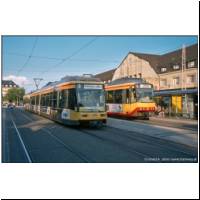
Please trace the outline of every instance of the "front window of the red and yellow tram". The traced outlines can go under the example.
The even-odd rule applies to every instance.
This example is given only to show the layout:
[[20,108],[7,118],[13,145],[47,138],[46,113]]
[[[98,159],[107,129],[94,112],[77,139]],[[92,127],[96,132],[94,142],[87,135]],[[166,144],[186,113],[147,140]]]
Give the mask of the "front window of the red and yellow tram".
[[136,98],[139,102],[152,102],[153,89],[152,88],[138,88],[136,89]]

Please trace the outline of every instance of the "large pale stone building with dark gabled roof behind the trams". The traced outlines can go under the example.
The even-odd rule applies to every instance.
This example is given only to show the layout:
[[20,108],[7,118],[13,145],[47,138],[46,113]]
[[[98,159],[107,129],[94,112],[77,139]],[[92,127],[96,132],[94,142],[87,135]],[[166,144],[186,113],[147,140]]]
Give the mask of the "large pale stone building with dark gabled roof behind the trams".
[[153,84],[156,101],[166,115],[197,118],[197,44],[163,55],[129,52],[117,68],[96,75],[103,81],[127,76]]

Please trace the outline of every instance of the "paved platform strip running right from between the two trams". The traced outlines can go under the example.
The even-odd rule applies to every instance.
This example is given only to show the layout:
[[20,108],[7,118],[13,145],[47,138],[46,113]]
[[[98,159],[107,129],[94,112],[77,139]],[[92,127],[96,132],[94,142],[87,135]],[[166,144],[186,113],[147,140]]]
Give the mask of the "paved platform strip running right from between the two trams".
[[142,122],[126,121],[122,119],[108,118],[107,125],[113,128],[137,132],[163,140],[173,141],[190,147],[198,147],[198,131],[185,130],[174,127],[164,127]]

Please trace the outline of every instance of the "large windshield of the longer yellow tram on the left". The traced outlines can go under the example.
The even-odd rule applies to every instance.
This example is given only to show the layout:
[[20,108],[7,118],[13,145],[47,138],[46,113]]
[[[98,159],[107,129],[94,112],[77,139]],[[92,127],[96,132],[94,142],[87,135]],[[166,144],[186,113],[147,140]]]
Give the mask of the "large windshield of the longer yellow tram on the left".
[[105,111],[105,94],[102,85],[79,86],[77,97],[80,111]]

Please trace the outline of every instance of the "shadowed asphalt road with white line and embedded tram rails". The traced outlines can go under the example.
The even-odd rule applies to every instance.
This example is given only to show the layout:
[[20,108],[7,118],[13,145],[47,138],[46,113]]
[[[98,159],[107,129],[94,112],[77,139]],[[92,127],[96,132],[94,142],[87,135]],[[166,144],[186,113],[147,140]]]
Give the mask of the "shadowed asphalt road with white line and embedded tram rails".
[[117,127],[63,126],[23,109],[3,108],[2,162],[197,162],[197,149]]

